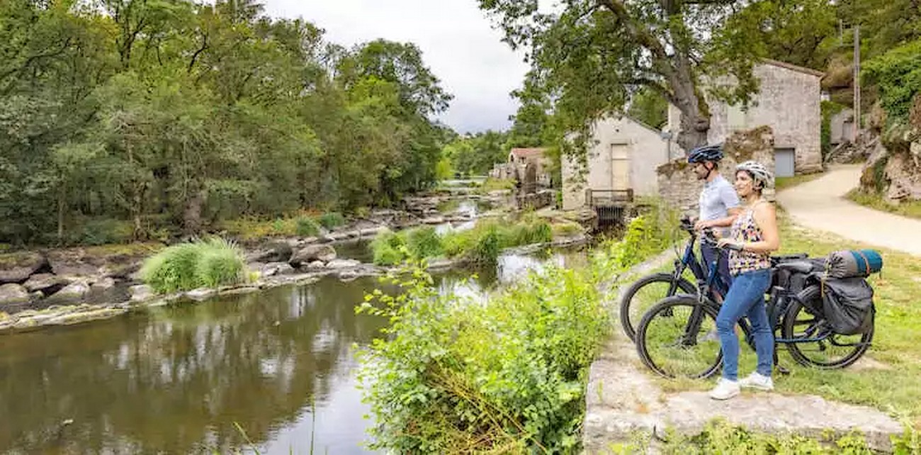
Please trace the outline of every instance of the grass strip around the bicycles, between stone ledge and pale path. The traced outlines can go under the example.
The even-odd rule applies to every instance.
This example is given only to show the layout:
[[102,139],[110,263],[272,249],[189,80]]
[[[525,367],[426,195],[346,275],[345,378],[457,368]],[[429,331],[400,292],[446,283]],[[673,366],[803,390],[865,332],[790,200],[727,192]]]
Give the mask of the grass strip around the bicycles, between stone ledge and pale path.
[[[875,248],[832,234],[792,225],[781,214],[781,253],[809,252],[821,257],[831,251]],[[915,428],[921,428],[921,259],[889,250],[879,250],[884,266],[881,274],[869,278],[875,290],[876,332],[873,345],[856,365],[845,369],[818,370],[801,367],[779,346],[780,362],[792,370],[777,377],[780,393],[818,394],[839,402],[867,405],[893,414]],[[670,266],[663,267],[663,270]],[[743,347],[740,372],[754,368],[755,356]],[[712,381],[657,379],[665,391],[707,390]]]

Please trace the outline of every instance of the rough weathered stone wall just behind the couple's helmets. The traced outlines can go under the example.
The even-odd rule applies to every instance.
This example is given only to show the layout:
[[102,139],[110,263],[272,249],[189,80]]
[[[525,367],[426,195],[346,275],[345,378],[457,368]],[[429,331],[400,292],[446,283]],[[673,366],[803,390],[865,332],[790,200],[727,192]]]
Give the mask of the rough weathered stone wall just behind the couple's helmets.
[[[719,171],[729,182],[735,181],[735,168],[740,162],[753,159],[767,169],[774,169],[774,134],[770,127],[762,126],[749,131],[731,134],[723,145],[726,156]],[[697,216],[697,200],[704,182],[697,180],[694,169],[686,158],[676,158],[659,166],[659,196],[683,213]],[[774,189],[764,191],[764,197],[774,200]]]

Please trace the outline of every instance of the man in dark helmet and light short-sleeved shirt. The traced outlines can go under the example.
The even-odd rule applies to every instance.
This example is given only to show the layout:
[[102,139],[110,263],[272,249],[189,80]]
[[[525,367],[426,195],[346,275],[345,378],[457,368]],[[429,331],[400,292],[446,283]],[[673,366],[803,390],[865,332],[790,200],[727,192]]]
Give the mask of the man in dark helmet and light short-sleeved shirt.
[[[740,214],[739,195],[736,194],[735,188],[719,173],[719,160],[723,159],[723,150],[721,146],[700,146],[691,150],[688,156],[688,163],[694,166],[694,174],[698,180],[704,181],[704,190],[700,192],[700,216],[694,228],[697,230],[705,227],[714,227],[717,225],[731,225],[736,216]],[[719,229],[717,233],[720,237],[725,237],[726,229]],[[707,266],[719,258],[717,262],[717,273],[722,278],[723,283],[729,286],[732,283],[732,276],[729,275],[729,258],[726,254],[720,254],[719,250],[709,245],[701,243],[701,255]]]

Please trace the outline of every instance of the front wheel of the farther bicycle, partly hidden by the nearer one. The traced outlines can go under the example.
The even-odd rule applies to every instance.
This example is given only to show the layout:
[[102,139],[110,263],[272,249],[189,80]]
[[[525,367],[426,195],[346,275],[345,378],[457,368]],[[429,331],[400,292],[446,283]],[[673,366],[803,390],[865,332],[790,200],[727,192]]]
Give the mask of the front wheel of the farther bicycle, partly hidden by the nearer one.
[[684,278],[680,278],[674,286],[672,286],[673,281],[674,275],[672,274],[649,274],[636,280],[624,291],[624,297],[621,298],[621,327],[624,328],[624,333],[630,338],[630,341],[636,340],[636,322],[643,317],[647,309],[662,298],[671,297],[677,293],[694,294],[697,289],[694,284]]

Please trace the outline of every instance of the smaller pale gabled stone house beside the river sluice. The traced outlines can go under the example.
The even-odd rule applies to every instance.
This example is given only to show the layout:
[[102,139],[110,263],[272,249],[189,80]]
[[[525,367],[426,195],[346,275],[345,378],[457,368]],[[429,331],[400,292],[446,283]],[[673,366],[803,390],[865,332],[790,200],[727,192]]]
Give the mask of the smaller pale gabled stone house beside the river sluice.
[[585,207],[586,190],[658,195],[656,168],[684,156],[670,136],[627,116],[604,117],[589,131],[588,169],[574,157],[564,157],[561,163],[564,210]]

